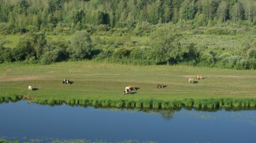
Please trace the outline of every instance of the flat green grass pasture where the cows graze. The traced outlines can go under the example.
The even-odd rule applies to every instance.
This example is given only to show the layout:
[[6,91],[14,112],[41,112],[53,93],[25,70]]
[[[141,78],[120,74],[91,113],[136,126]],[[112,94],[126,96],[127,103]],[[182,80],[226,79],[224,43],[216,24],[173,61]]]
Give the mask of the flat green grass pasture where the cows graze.
[[[194,84],[189,83],[187,77],[195,77],[196,74],[204,75],[205,79],[196,80],[198,82]],[[70,79],[74,83],[70,86],[63,85],[61,83],[63,79]],[[237,102],[246,100],[253,102],[248,104],[254,106],[255,80],[256,75],[253,70],[220,70],[192,66],[133,66],[93,61],[51,65],[0,64],[1,96],[22,94],[34,98],[38,103],[80,102],[82,104],[83,100],[84,104],[92,102],[94,105],[102,105],[111,101],[132,101],[141,104],[148,102],[147,106],[152,107],[157,106],[151,103],[154,101],[160,101],[156,104],[183,101],[181,104],[184,104],[184,101],[189,99],[195,105],[196,102],[201,104],[203,100],[212,103],[216,99],[219,104],[228,99]],[[161,83],[166,87],[157,89],[157,84]],[[29,85],[38,90],[28,91]],[[123,95],[122,91],[129,85],[140,89],[133,91],[133,94]],[[106,104],[110,106],[111,103]],[[239,102],[237,106],[242,104]],[[146,106],[146,103],[138,106]]]

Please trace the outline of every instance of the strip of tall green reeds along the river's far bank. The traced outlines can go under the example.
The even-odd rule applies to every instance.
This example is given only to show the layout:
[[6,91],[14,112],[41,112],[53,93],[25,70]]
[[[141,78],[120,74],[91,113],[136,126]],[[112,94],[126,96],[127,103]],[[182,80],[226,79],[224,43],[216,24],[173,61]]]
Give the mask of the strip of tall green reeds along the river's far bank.
[[220,108],[254,108],[256,107],[256,99],[232,99],[232,98],[211,98],[211,99],[182,99],[173,101],[160,100],[86,100],[67,98],[65,100],[58,98],[28,98],[27,96],[12,95],[1,96],[2,102],[16,102],[18,100],[29,100],[30,102],[61,105],[81,105],[93,107],[116,107],[116,108],[139,108],[139,109],[175,109],[180,107],[194,107],[195,109],[220,109]]

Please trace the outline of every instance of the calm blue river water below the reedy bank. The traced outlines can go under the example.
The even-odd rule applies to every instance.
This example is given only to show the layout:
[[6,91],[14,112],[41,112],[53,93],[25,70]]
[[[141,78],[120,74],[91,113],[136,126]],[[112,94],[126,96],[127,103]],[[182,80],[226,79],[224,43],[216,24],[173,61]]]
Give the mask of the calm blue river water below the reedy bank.
[[[0,104],[0,138],[256,142],[256,110],[168,112]],[[48,140],[49,141],[49,140]],[[44,141],[43,142],[48,142]]]

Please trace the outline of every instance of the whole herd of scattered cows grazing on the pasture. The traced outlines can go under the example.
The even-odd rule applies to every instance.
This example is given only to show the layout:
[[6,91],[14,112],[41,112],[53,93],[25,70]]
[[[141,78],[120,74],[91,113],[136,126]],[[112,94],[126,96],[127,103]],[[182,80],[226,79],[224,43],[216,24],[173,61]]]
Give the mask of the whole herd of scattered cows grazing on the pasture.
[[[204,77],[202,75],[196,75],[196,79],[200,80],[200,79],[204,79]],[[194,78],[188,78],[188,82],[189,83],[194,83]],[[62,81],[62,84],[68,84],[70,85],[72,82],[70,82],[70,80],[68,79],[64,79]],[[165,87],[164,84],[157,84],[157,88],[163,88]],[[127,86],[125,87],[124,91],[123,91],[123,94],[131,94],[131,91],[133,90],[137,90],[139,89],[138,87],[135,87],[135,86]],[[28,90],[29,91],[32,91],[33,90],[33,87],[32,86],[28,86]]]

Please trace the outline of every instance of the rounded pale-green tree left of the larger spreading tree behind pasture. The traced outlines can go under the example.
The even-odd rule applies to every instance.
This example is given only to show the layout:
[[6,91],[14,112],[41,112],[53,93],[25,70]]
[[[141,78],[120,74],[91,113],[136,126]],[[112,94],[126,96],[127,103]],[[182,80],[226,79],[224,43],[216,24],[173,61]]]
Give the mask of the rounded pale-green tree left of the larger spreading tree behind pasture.
[[67,52],[73,59],[84,59],[92,56],[92,50],[90,34],[87,31],[76,31],[71,37]]

